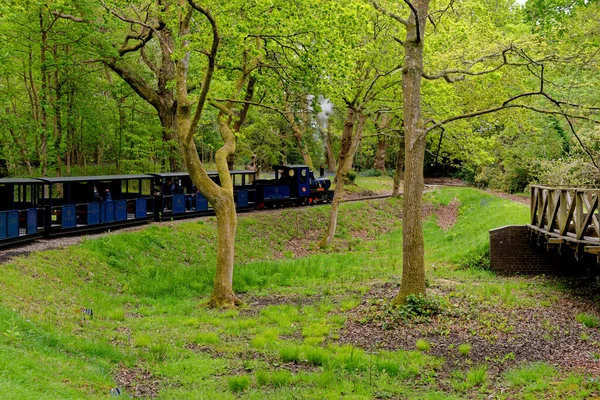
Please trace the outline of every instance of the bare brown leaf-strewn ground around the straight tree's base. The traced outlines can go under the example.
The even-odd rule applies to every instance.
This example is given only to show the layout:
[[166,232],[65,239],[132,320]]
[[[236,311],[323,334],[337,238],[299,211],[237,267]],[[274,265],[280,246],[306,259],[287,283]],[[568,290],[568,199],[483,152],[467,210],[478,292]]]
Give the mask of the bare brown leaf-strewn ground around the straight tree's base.
[[[425,339],[432,345],[428,353],[446,360],[446,373],[485,363],[491,375],[499,375],[517,363],[534,361],[600,373],[600,331],[575,319],[578,313],[598,314],[598,305],[587,300],[591,297],[557,291],[551,303],[539,298],[536,306],[507,306],[470,298],[456,284],[441,280],[430,288],[430,293],[452,301],[441,315],[421,322],[386,317],[385,308],[398,287],[374,285],[348,313],[340,341],[365,349],[415,350],[416,341]],[[471,345],[466,355],[458,351],[464,344]]]

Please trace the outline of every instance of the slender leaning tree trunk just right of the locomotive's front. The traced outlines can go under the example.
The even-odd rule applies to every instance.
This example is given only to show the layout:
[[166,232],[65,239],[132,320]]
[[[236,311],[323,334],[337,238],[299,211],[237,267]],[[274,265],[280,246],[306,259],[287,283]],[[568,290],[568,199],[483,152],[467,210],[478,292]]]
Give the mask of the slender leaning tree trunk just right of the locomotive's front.
[[[362,114],[360,111],[356,112],[352,108],[348,108],[348,115],[346,117],[346,122],[344,123],[344,133],[342,134],[342,146],[338,158],[338,171],[335,176],[335,195],[333,196],[333,202],[329,212],[327,232],[319,243],[321,248],[330,246],[333,241],[337,228],[340,202],[344,195],[344,181],[346,180],[348,171],[350,171],[350,168],[352,167],[354,153],[356,153],[356,149],[362,139],[366,120],[367,116],[365,114]],[[353,135],[352,133],[355,131],[355,125],[356,132]]]

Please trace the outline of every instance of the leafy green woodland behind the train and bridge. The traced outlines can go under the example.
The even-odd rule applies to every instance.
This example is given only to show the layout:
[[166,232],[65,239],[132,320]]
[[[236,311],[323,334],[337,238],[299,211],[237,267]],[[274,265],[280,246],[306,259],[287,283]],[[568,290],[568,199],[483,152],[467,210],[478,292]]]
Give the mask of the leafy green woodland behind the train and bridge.
[[[160,28],[178,6],[172,3],[0,5],[2,174],[183,168],[174,134],[178,56],[167,51],[178,39]],[[210,166],[221,145],[219,102],[237,98],[236,167],[256,154],[263,170],[308,161],[333,172],[352,107],[365,117],[354,169],[393,174],[401,166],[400,25],[357,0],[205,3],[219,24],[221,47],[209,94],[213,106],[207,106],[194,138],[203,163]],[[433,1],[430,9],[424,56],[429,76],[422,90],[428,121],[498,107],[540,85],[548,96],[526,96],[519,99],[522,108],[432,131],[426,175],[453,175],[510,192],[531,182],[595,183],[600,5],[465,0]],[[210,31],[198,21],[193,42],[199,49]],[[197,50],[190,59],[192,97],[204,68]],[[250,78],[236,92],[241,70]]]

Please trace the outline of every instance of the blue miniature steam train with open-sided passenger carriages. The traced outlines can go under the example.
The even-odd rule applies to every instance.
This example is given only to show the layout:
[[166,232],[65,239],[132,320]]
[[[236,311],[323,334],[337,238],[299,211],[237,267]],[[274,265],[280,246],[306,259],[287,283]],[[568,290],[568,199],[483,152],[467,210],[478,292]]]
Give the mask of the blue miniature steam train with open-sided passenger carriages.
[[[330,202],[329,178],[306,165],[278,165],[274,179],[230,171],[239,211]],[[217,184],[219,176],[210,172]],[[214,214],[187,172],[0,179],[0,247]]]

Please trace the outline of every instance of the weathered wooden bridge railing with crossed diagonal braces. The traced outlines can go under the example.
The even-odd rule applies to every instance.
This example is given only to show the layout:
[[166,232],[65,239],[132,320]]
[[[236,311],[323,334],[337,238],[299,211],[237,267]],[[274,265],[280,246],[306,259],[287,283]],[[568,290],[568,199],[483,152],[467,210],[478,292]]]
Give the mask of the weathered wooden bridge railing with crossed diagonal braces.
[[[532,185],[528,226],[553,238],[554,243],[600,246],[599,195],[600,188]],[[586,252],[590,250],[585,248]]]

